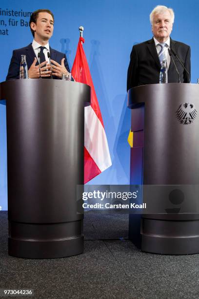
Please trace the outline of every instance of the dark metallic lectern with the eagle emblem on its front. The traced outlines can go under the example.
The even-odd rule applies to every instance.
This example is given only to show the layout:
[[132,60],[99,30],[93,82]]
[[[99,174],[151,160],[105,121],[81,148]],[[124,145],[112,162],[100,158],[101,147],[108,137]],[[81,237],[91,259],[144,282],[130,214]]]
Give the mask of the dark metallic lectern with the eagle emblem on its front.
[[146,209],[130,211],[129,237],[143,251],[199,253],[199,85],[131,88],[131,184]]

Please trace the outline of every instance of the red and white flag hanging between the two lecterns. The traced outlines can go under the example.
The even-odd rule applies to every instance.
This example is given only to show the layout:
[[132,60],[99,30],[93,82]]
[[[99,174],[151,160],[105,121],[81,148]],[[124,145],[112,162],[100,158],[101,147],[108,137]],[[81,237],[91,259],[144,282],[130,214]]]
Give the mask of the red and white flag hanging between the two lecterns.
[[91,105],[85,107],[84,184],[112,165],[100,107],[80,37],[71,70],[75,81],[91,87]]

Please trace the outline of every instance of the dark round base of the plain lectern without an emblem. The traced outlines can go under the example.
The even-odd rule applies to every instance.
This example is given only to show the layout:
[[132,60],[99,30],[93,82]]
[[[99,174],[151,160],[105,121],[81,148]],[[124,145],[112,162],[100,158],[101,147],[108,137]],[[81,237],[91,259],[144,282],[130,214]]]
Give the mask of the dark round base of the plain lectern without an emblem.
[[8,254],[23,258],[82,254],[82,225],[82,220],[48,224],[9,221]]

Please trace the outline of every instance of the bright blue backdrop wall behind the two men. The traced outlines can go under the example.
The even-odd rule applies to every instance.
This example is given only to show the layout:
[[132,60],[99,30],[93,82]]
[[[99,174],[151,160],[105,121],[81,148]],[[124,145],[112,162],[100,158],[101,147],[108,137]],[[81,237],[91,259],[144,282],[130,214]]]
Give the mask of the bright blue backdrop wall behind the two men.
[[[128,184],[130,148],[127,137],[130,110],[127,106],[126,74],[134,43],[152,38],[149,14],[156,5],[175,11],[171,37],[191,46],[192,83],[199,77],[198,0],[39,0],[0,1],[0,82],[7,75],[12,50],[33,40],[27,17],[2,16],[2,10],[32,12],[39,8],[52,10],[54,34],[50,45],[65,52],[72,67],[79,40],[79,26],[84,26],[84,50],[98,96],[113,166],[90,181],[90,184]],[[19,15],[19,13],[16,13]],[[12,20],[17,26],[9,26]],[[21,21],[21,19],[23,21]],[[6,31],[7,29],[7,31]],[[3,35],[4,33],[4,35]],[[7,210],[6,117],[0,105],[0,206]]]

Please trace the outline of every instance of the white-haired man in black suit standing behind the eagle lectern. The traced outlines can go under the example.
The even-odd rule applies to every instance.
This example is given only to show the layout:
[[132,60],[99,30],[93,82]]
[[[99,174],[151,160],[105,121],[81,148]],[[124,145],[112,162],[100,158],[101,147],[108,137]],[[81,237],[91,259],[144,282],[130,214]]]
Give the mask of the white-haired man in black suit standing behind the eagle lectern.
[[[175,51],[189,74],[191,72],[190,47],[170,38],[174,22],[173,10],[158,5],[151,12],[150,21],[154,37],[149,41],[133,46],[127,75],[127,91],[131,87],[159,83],[162,57],[167,63],[168,83],[179,82],[179,76],[169,55],[168,48]],[[174,55],[172,57],[179,71],[180,82],[189,83],[188,73],[178,59]]]

